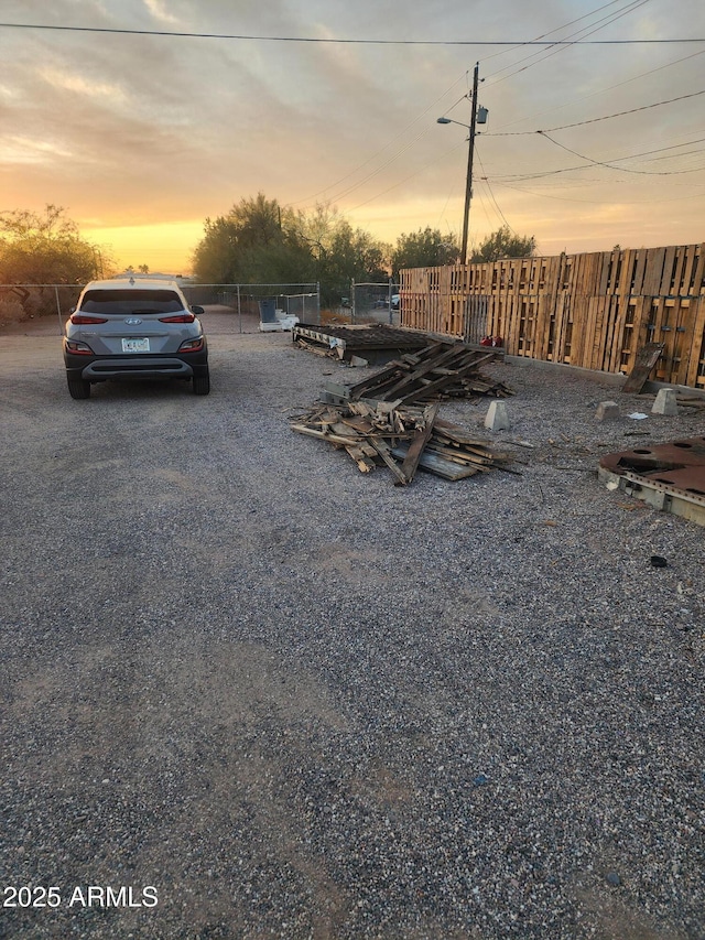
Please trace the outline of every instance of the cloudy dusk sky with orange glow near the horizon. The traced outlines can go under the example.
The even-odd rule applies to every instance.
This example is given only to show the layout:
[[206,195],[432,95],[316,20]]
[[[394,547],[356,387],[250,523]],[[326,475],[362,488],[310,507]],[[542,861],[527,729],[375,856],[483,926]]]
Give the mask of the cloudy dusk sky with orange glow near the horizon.
[[0,209],[64,206],[123,266],[186,273],[204,220],[258,192],[391,242],[459,236],[467,131],[436,119],[469,125],[476,62],[471,244],[505,224],[541,255],[705,240],[703,0],[3,0],[0,19]]

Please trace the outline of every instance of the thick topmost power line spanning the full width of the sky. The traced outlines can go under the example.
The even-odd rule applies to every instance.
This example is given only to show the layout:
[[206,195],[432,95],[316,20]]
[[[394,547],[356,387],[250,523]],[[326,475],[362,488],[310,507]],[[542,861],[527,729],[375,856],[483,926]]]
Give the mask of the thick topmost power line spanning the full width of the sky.
[[175,36],[199,40],[238,40],[242,42],[285,42],[329,45],[434,45],[434,46],[556,46],[556,45],[669,45],[677,43],[705,43],[705,37],[651,40],[350,40],[324,36],[259,36],[241,33],[191,33],[173,30],[121,30],[108,26],[63,26],[46,23],[0,23],[0,29],[45,30],[67,33],[110,33],[129,36]]

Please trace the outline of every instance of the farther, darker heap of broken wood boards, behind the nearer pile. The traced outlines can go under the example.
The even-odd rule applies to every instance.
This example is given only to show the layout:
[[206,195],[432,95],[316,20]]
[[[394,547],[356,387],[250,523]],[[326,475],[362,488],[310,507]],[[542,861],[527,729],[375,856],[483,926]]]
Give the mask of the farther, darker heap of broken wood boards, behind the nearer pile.
[[346,386],[343,397],[350,401],[371,398],[400,404],[474,395],[505,398],[513,392],[500,381],[488,380],[479,371],[481,365],[496,359],[497,355],[496,352],[473,349],[463,343],[434,341],[416,353],[393,359],[376,375]]

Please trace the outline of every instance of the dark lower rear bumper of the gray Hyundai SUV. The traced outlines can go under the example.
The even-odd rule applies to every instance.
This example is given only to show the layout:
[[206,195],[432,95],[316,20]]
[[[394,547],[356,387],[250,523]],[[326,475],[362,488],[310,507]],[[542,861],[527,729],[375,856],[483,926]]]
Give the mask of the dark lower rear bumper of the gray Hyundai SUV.
[[184,356],[76,356],[65,354],[68,379],[192,379],[208,375],[208,353]]

